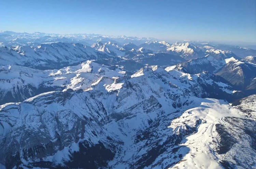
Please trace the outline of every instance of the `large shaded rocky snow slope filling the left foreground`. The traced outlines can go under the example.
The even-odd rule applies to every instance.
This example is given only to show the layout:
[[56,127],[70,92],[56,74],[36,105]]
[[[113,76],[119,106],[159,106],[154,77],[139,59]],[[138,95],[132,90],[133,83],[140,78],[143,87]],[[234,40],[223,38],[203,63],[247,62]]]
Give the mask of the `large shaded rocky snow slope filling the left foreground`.
[[[160,81],[161,78],[151,69],[146,70],[151,74],[148,75],[152,80],[157,78],[155,82],[145,76],[134,77],[130,81],[116,79],[114,83],[107,82],[108,79],[101,79],[97,84],[85,89],[86,91],[68,89],[48,92],[22,103],[2,105],[0,144],[5,149],[1,151],[1,163],[5,164],[6,168],[13,168],[15,165],[46,168],[61,165],[83,168],[89,165],[89,161],[75,163],[80,160],[77,156],[80,153],[97,150],[100,154],[105,151],[107,156],[103,157],[98,153],[93,155],[100,156],[103,164],[94,159],[91,168],[106,166],[106,161],[113,159],[114,155],[118,158],[118,154],[123,154],[124,149],[133,145],[133,141],[127,138],[135,139],[136,131],[144,130],[149,124],[147,121],[155,118],[157,112],[161,113],[166,108],[169,112],[170,107],[174,109],[173,100],[157,99],[165,94],[163,90],[160,96],[157,94],[156,91],[161,90],[160,85],[170,88],[169,84]],[[147,74],[147,71],[144,73]],[[142,79],[146,79],[148,83]],[[173,92],[173,89],[170,88],[168,93]],[[175,102],[179,100],[189,104],[185,102],[188,96],[182,94],[182,89],[179,91],[180,95],[173,98]],[[162,107],[159,102],[168,104],[164,109],[159,109]],[[12,112],[11,115],[6,114],[6,111]],[[130,122],[137,122],[141,127],[138,128]],[[22,135],[17,134],[21,130]],[[30,135],[31,138],[25,139],[29,133],[33,133]],[[97,145],[101,147],[100,150]],[[132,153],[134,150],[129,151]],[[125,154],[128,156],[122,157],[123,161],[129,158],[129,153]],[[116,165],[116,162],[113,163]]]

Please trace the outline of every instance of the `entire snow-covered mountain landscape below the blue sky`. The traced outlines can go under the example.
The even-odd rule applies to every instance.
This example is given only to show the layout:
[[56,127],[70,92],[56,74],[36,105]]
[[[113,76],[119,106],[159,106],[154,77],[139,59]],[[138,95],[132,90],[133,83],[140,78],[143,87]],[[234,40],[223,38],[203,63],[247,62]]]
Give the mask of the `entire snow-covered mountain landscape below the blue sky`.
[[0,32],[0,169],[253,169],[255,56],[230,47]]

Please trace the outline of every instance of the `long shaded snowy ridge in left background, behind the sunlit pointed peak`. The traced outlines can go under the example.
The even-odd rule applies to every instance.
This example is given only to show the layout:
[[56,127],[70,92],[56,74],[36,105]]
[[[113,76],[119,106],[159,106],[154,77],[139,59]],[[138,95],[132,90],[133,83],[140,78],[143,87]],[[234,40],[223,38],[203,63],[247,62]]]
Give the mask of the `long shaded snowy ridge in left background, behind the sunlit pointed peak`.
[[[132,60],[117,57],[117,54],[124,54],[123,48],[119,48],[116,44],[107,44],[114,52],[98,51],[89,46],[82,44],[66,44],[66,43],[49,43],[33,46],[14,46],[0,47],[0,65],[22,65],[30,68],[41,70],[60,69],[66,66],[73,66],[85,62],[87,60],[95,60],[98,64],[109,65],[112,67],[122,67],[129,71],[130,74],[140,69],[143,65]],[[104,48],[102,48],[104,50]],[[119,53],[118,53],[119,52]],[[114,55],[113,55],[114,54]]]

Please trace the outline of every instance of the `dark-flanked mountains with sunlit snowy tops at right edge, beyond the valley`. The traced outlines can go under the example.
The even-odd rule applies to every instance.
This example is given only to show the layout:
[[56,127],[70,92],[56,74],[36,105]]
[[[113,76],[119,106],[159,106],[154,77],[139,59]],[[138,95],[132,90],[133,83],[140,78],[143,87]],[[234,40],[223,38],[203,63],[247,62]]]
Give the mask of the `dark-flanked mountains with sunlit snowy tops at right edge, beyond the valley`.
[[177,64],[176,69],[191,74],[208,71],[223,78],[227,81],[225,83],[230,83],[237,90],[247,90],[246,92],[249,93],[255,91],[256,65],[252,63],[253,57],[245,58],[244,60],[247,60],[247,62],[239,61],[234,57],[225,60],[215,58],[211,55],[196,58]]

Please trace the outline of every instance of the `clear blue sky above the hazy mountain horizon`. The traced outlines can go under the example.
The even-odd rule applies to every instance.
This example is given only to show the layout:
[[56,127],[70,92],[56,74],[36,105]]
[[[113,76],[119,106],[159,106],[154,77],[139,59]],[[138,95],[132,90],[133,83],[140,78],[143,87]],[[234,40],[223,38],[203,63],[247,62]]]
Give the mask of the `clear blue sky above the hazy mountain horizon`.
[[0,30],[256,42],[255,0],[1,0]]

